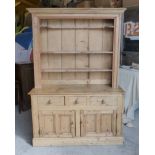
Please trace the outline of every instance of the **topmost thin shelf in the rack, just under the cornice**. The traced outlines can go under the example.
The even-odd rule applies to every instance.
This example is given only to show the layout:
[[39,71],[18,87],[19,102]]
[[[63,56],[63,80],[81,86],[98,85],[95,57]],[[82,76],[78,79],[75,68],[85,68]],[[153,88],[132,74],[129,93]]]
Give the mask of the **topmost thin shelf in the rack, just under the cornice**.
[[48,26],[40,26],[43,29],[54,29],[54,30],[68,30],[68,29],[76,29],[76,30],[95,30],[95,29],[113,29],[113,25],[104,26],[104,27],[48,27]]

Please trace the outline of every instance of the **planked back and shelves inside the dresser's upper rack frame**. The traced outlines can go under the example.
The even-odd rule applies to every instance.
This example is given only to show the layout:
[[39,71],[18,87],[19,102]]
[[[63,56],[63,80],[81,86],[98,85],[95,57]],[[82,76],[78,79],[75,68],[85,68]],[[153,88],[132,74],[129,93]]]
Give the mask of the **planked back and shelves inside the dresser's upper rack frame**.
[[[51,84],[54,82],[57,84],[57,80],[62,80],[61,82],[68,80],[68,83],[70,83],[69,80],[80,80],[81,84],[91,84],[90,79],[98,84],[101,79],[104,79],[107,81],[104,84],[114,85],[115,83],[116,85],[115,75],[118,71],[116,72],[114,68],[116,64],[112,64],[118,62],[113,61],[115,56],[110,55],[116,53],[116,51],[113,52],[113,29],[101,29],[113,25],[112,19],[42,20],[41,26],[45,28],[45,32],[47,31],[47,38],[44,40],[46,34],[41,29],[42,40],[44,40],[44,46],[46,44],[48,46],[42,52],[44,53],[41,59],[43,80]],[[117,34],[114,35],[116,36]],[[86,54],[82,55],[79,51]],[[88,70],[83,70],[85,68]],[[95,69],[92,70],[93,68]],[[112,74],[103,73],[108,69],[112,69]],[[98,73],[94,73],[96,71]],[[85,82],[85,80],[88,81]]]

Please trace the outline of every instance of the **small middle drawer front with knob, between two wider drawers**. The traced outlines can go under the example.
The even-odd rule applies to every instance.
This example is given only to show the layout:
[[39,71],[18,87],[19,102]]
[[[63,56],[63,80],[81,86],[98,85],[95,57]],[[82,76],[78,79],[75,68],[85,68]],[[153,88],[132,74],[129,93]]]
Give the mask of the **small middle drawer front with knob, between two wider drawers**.
[[86,96],[67,96],[66,105],[86,105],[87,97]]

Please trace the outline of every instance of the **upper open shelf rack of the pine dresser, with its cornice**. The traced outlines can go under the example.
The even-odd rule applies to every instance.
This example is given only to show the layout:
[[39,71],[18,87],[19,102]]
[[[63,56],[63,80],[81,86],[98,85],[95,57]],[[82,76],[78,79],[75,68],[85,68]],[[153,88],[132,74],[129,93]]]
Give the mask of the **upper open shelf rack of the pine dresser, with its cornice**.
[[63,84],[118,87],[125,8],[28,10],[33,23],[35,88]]

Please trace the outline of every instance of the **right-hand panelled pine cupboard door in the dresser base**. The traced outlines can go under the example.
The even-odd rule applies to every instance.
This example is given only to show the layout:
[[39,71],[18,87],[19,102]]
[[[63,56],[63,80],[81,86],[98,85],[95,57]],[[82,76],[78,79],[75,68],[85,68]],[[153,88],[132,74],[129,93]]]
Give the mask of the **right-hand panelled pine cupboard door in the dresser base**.
[[81,136],[115,136],[116,111],[81,111]]

